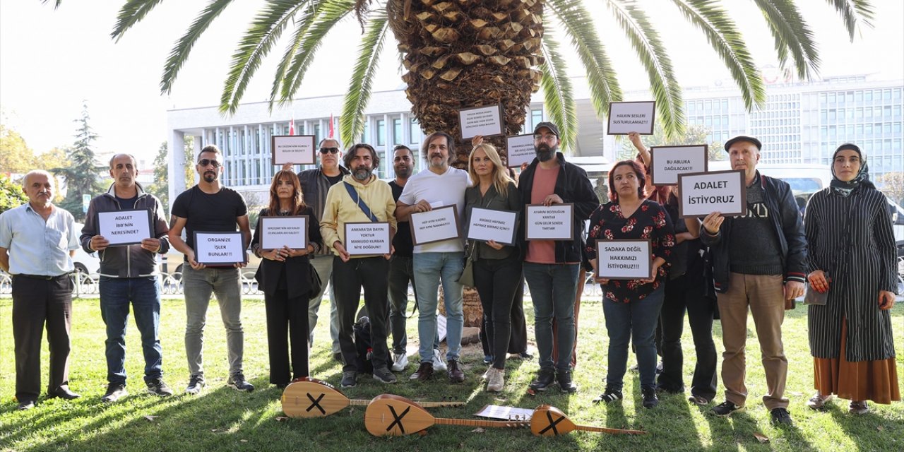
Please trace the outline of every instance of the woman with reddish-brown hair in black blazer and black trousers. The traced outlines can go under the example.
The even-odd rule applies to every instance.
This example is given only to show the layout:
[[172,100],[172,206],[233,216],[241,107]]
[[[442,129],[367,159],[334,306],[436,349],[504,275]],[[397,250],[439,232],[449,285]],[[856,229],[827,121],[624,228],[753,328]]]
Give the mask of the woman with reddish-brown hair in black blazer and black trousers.
[[[306,248],[293,250],[284,246],[274,250],[260,247],[261,218],[268,216],[307,216]],[[306,377],[307,303],[312,292],[308,254],[323,246],[320,221],[305,205],[298,176],[292,171],[279,171],[270,184],[269,207],[260,211],[258,226],[251,240],[251,250],[261,258],[254,278],[264,292],[267,311],[267,344],[270,359],[270,383],[285,388],[289,381]],[[291,344],[291,372],[289,369]]]

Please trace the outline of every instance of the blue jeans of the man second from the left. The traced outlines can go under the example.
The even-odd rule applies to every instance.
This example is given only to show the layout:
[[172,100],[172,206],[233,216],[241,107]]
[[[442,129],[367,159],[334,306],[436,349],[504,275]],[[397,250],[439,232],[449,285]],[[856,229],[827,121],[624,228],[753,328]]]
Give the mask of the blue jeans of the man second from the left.
[[145,382],[163,376],[160,347],[160,278],[100,277],[100,317],[107,325],[107,381],[126,384],[126,326],[129,301],[145,353]]

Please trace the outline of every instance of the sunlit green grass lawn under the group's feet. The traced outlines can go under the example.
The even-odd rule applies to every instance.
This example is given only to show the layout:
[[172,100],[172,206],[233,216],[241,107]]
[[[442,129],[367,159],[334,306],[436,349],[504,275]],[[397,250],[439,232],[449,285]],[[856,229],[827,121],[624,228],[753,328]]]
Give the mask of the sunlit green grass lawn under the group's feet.
[[[709,407],[692,405],[682,395],[665,395],[658,408],[645,410],[640,405],[636,373],[626,375],[623,403],[597,406],[591,403],[603,390],[606,370],[606,330],[599,297],[585,297],[579,327],[579,363],[575,379],[580,389],[566,396],[549,391],[537,397],[526,393],[537,370],[536,360],[509,360],[505,391],[483,391],[480,374],[485,371],[479,344],[467,345],[463,363],[467,380],[449,384],[435,378],[426,383],[409,381],[417,367],[414,344],[410,344],[412,363],[400,374],[395,385],[360,379],[357,387],[344,391],[357,399],[371,399],[384,392],[410,399],[466,400],[464,408],[432,410],[437,417],[474,419],[472,415],[485,404],[534,408],[549,403],[563,410],[579,424],[610,428],[638,428],[645,436],[616,436],[591,432],[573,432],[559,438],[536,438],[528,428],[468,428],[434,426],[423,435],[402,438],[374,438],[364,429],[363,407],[353,407],[323,419],[282,419],[280,391],[268,385],[267,339],[262,300],[246,299],[242,311],[245,327],[246,376],[257,386],[250,394],[225,386],[225,333],[219,310],[212,303],[205,337],[205,371],[208,388],[200,397],[181,395],[188,373],[184,353],[184,304],[179,298],[164,301],[161,313],[161,341],[164,347],[165,381],[177,395],[158,399],[147,395],[141,380],[144,364],[137,329],[131,323],[127,334],[128,390],[131,394],[113,405],[100,402],[106,381],[104,325],[97,299],[74,302],[72,322],[71,388],[82,394],[79,400],[39,400],[35,410],[14,410],[14,354],[10,325],[12,302],[0,299],[0,450],[67,451],[381,451],[381,450],[890,450],[904,449],[904,404],[871,404],[865,416],[847,414],[846,400],[833,403],[824,411],[809,410],[805,401],[813,392],[813,365],[806,338],[806,309],[798,306],[788,312],[785,322],[785,347],[789,372],[787,396],[795,419],[793,428],[775,428],[769,424],[767,410],[760,397],[765,378],[759,363],[756,334],[749,329],[748,409],[720,419],[708,414]],[[526,301],[530,306],[530,301]],[[530,314],[531,309],[527,309]],[[323,306],[321,319],[328,318]],[[530,324],[531,318],[528,319]],[[898,373],[904,378],[904,306],[893,312],[895,344],[898,346]],[[409,334],[416,342],[417,321],[410,319]],[[530,329],[532,327],[529,326]],[[720,328],[714,334],[721,349]],[[326,322],[317,325],[311,358],[312,375],[338,385],[341,368],[330,357]],[[529,334],[532,338],[532,333]],[[693,347],[690,330],[685,327],[684,373],[690,382]],[[533,346],[533,345],[532,345]],[[46,347],[46,345],[45,345]],[[46,385],[47,354],[42,354]],[[629,358],[629,365],[634,357]],[[721,401],[722,395],[717,396]],[[754,434],[768,438],[761,444]]]

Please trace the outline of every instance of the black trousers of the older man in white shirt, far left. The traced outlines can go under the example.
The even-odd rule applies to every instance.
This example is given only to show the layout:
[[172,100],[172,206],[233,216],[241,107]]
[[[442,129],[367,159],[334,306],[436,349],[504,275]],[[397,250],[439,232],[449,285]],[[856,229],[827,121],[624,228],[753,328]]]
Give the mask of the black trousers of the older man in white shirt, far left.
[[51,353],[47,392],[69,384],[71,314],[69,275],[52,279],[13,277],[16,400],[38,400],[41,394],[41,339],[45,323]]

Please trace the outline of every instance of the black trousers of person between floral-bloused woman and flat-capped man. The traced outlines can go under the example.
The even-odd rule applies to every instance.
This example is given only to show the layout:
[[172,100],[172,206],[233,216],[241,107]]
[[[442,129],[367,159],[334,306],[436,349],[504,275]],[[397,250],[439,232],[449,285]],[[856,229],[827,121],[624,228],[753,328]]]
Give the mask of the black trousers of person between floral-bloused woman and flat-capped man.
[[712,342],[712,319],[715,303],[706,297],[704,282],[692,283],[683,275],[665,284],[665,299],[659,316],[663,330],[663,372],[657,384],[665,391],[684,391],[682,379],[683,353],[681,335],[684,311],[691,325],[697,363],[693,370],[691,393],[712,400],[716,395],[716,345]]

